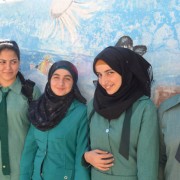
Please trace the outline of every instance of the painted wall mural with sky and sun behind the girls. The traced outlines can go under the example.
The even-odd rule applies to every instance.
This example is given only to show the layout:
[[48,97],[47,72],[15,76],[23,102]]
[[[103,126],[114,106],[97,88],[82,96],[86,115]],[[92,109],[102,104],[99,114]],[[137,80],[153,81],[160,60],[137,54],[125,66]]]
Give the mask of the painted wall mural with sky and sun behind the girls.
[[157,105],[180,93],[180,0],[0,0],[0,9],[0,39],[18,42],[21,70],[42,91],[49,67],[65,59],[90,100],[93,58],[122,46],[152,64]]

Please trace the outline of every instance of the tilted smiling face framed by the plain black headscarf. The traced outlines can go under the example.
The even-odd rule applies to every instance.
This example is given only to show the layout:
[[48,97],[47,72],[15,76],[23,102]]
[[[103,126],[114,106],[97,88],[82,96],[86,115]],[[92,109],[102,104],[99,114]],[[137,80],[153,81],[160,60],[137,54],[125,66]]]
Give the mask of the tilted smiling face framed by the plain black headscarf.
[[105,62],[96,63],[95,70],[99,84],[106,90],[107,94],[112,95],[119,90],[122,85],[122,76],[119,73],[114,71]]

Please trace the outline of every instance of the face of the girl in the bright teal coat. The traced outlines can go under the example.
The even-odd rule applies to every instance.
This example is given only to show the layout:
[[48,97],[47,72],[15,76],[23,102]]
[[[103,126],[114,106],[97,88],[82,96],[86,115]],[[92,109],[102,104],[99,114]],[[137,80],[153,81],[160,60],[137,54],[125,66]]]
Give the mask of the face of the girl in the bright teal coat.
[[66,69],[57,69],[50,80],[51,90],[57,96],[68,94],[73,86],[73,78],[71,73]]

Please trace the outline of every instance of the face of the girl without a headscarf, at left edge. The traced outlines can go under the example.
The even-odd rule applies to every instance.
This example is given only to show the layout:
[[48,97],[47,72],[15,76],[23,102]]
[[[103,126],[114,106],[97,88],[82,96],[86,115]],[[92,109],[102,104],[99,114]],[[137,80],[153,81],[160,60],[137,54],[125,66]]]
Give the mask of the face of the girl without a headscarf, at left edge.
[[3,49],[0,52],[0,84],[10,86],[16,80],[20,61],[16,53],[11,49]]

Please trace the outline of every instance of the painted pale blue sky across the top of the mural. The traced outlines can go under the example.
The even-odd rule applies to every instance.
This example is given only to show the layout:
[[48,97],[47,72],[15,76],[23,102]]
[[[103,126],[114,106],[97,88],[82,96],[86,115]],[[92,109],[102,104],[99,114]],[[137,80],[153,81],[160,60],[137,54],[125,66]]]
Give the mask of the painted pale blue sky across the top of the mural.
[[[129,35],[136,44],[146,44],[149,51],[180,48],[177,0],[73,1],[67,16],[77,21],[69,21],[70,27],[76,29],[74,38],[70,28],[65,28],[62,36],[62,21],[51,16],[53,0],[6,1],[0,3],[0,36],[16,39],[22,48],[65,53],[78,50],[94,55],[105,46],[114,45],[122,35]],[[57,1],[61,6],[65,2]]]

